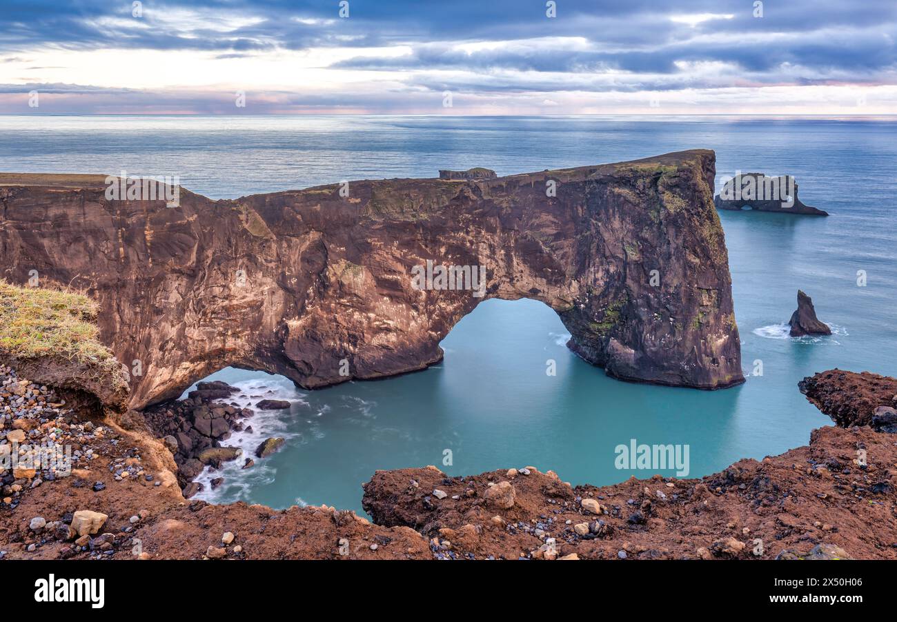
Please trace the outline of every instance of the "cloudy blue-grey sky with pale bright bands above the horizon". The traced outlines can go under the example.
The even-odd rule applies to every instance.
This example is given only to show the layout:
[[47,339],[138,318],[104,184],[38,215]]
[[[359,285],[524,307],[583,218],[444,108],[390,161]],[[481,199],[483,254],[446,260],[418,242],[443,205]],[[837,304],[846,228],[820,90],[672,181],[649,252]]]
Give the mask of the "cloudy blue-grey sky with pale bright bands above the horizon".
[[0,0],[0,113],[897,114],[897,0],[347,4]]

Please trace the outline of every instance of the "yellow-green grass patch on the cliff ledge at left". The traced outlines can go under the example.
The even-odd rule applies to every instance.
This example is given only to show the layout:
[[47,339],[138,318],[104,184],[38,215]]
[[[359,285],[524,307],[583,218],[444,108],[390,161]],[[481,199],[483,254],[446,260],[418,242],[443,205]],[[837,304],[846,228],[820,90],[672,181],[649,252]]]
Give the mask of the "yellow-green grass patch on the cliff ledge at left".
[[62,356],[100,367],[119,367],[97,339],[97,305],[83,294],[17,287],[0,280],[0,350],[32,359]]

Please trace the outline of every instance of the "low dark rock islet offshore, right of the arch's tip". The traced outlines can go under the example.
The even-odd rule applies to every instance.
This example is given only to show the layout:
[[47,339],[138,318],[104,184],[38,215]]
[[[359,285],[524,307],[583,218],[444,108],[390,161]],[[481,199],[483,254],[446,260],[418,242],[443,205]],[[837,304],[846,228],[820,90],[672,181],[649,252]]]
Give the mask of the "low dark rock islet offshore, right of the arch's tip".
[[797,181],[790,175],[766,177],[762,173],[744,173],[733,177],[713,197],[718,210],[742,210],[749,207],[758,212],[781,212],[828,216],[828,212],[801,203],[797,198]]

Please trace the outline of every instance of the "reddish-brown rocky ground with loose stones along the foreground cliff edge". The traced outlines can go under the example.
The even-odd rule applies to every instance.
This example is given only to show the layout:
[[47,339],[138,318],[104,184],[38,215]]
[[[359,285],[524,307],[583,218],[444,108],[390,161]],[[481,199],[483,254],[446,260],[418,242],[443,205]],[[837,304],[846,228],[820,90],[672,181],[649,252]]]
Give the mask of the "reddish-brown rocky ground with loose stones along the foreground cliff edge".
[[[62,477],[2,471],[0,557],[897,558],[895,437],[862,425],[891,415],[897,379],[886,376],[805,378],[808,399],[846,427],[814,430],[809,445],[705,478],[571,487],[534,466],[465,477],[432,466],[377,471],[362,500],[371,523],[326,505],[188,501],[170,441],[147,431],[153,415],[82,419],[51,402],[48,387],[0,374],[0,447],[23,430],[32,443],[49,437],[77,447]],[[215,413],[223,406],[214,401],[231,395],[214,385],[198,391],[212,393],[189,398],[192,410],[178,423],[194,422],[180,430],[191,440],[195,411]],[[236,414],[222,413],[225,421]],[[206,450],[226,434],[202,435]]]

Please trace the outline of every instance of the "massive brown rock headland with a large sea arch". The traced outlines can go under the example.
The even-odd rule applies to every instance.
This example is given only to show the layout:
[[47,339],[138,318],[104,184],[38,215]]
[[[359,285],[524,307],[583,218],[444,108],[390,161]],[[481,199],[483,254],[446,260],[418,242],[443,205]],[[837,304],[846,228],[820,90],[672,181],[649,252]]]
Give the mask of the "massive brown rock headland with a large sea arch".
[[[0,174],[2,276],[86,289],[132,408],[222,367],[303,387],[422,369],[486,298],[535,298],[625,380],[743,382],[713,151],[527,175],[110,201],[102,176]],[[546,195],[546,188],[556,194]],[[343,193],[344,194],[344,193]],[[485,269],[483,297],[415,266]],[[652,272],[657,271],[657,272]]]

